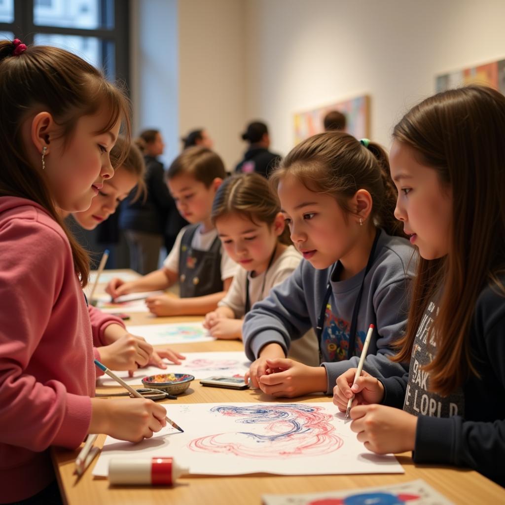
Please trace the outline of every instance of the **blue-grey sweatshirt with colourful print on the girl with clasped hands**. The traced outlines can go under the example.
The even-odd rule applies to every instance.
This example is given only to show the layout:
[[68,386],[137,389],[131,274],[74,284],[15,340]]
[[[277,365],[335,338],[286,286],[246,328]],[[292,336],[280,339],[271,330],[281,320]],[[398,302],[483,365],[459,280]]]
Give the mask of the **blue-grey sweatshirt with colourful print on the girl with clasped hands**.
[[[401,376],[405,367],[392,363],[391,343],[405,331],[409,310],[408,292],[416,266],[414,249],[400,237],[379,230],[373,264],[365,277],[356,331],[355,356],[347,360],[350,322],[365,271],[343,281],[331,280],[332,293],[326,307],[321,352],[331,394],[336,378],[358,366],[370,324],[375,325],[364,370],[376,377]],[[250,360],[269,343],[278,343],[287,354],[291,340],[316,328],[326,286],[335,265],[315,269],[302,260],[282,284],[256,303],[242,327],[245,353]]]

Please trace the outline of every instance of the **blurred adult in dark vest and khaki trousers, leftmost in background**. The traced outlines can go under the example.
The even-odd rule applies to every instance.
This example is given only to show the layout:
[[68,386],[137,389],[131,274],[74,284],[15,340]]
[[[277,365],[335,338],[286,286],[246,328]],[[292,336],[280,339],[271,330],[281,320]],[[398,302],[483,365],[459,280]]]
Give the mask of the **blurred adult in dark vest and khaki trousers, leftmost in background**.
[[165,171],[158,156],[165,144],[159,130],[144,130],[135,143],[142,145],[145,161],[145,198],[134,201],[130,193],[121,205],[119,226],[124,230],[130,250],[130,268],[145,275],[158,268],[166,221],[175,208],[165,182]]

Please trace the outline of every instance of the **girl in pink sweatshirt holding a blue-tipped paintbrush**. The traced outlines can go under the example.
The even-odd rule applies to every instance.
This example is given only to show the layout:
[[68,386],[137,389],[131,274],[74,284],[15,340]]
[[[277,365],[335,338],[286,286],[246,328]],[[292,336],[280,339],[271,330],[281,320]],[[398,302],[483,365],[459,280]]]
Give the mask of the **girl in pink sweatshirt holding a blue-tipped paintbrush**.
[[49,503],[51,445],[75,449],[88,433],[139,441],[166,412],[93,398],[93,345],[126,330],[87,307],[89,260],[57,213],[86,210],[112,177],[127,99],[75,55],[19,40],[0,41],[0,96],[0,503]]

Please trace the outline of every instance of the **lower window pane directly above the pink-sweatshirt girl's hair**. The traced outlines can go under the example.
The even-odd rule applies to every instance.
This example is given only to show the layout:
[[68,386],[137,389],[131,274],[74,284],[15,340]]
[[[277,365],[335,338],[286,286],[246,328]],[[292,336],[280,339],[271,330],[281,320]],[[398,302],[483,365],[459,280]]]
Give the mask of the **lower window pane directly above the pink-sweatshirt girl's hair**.
[[111,81],[115,79],[114,42],[97,37],[57,33],[35,33],[33,40],[35,44],[53,45],[66,49],[103,70]]

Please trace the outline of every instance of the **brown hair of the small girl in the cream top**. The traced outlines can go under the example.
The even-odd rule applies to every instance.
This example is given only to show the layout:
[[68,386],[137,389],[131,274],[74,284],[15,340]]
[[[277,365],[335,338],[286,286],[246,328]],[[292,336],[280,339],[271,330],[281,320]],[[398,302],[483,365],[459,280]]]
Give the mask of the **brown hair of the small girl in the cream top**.
[[[255,224],[272,226],[280,212],[279,200],[270,189],[265,177],[256,174],[238,174],[226,179],[216,192],[212,204],[212,222],[228,214],[240,214]],[[291,244],[286,226],[279,242]]]

